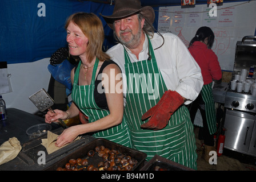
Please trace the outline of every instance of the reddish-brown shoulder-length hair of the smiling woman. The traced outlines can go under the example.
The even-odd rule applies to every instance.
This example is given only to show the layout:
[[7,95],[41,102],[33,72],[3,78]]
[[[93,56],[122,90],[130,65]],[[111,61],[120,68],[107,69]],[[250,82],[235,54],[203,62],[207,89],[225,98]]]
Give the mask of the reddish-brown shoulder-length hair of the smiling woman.
[[67,19],[65,28],[69,26],[69,23],[76,24],[89,39],[86,55],[87,59],[91,62],[96,56],[100,61],[109,60],[110,56],[102,51],[102,45],[104,42],[104,30],[101,19],[93,13],[75,13],[69,16]]

